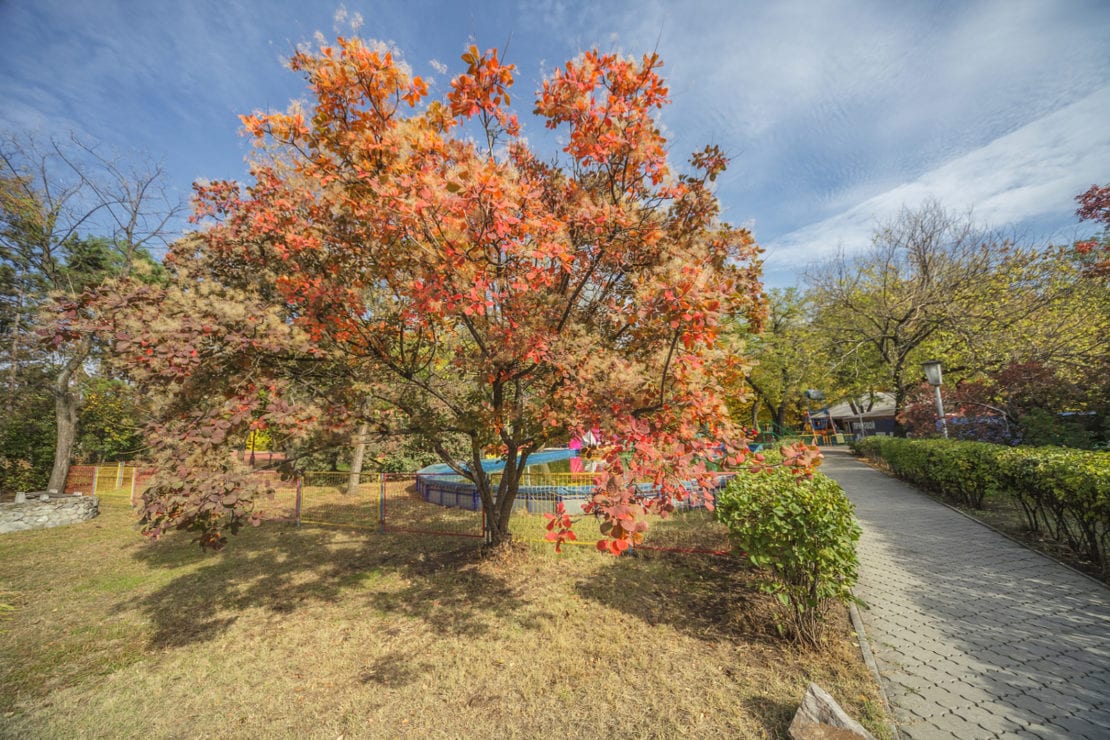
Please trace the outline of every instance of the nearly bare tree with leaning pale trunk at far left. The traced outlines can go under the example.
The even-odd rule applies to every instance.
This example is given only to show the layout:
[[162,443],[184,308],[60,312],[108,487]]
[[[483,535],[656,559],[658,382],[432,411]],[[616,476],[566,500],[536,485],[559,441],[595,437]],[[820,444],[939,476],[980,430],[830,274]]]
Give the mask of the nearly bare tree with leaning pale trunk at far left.
[[75,136],[46,145],[28,136],[0,140],[0,363],[9,405],[37,393],[34,378],[52,398],[49,488],[65,484],[80,382],[98,339],[85,333],[42,346],[43,310],[53,301],[77,301],[135,261],[149,261],[149,249],[161,244],[178,207],[157,166],[132,169]]

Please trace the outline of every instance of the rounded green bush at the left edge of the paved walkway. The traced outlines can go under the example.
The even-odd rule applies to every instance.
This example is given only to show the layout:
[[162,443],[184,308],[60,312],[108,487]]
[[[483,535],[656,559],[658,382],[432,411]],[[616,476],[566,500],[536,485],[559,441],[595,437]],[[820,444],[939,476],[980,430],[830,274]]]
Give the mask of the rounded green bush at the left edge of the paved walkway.
[[717,517],[779,608],[779,631],[816,645],[828,607],[854,601],[860,529],[831,478],[796,478],[783,468],[740,473],[717,494]]

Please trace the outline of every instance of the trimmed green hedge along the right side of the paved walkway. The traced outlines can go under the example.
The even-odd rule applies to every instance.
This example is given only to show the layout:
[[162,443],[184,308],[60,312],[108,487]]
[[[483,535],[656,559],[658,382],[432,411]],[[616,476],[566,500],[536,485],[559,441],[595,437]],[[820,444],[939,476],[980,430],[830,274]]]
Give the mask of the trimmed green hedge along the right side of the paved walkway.
[[852,450],[953,504],[1011,498],[1030,531],[1110,572],[1110,453],[895,437],[868,437]]

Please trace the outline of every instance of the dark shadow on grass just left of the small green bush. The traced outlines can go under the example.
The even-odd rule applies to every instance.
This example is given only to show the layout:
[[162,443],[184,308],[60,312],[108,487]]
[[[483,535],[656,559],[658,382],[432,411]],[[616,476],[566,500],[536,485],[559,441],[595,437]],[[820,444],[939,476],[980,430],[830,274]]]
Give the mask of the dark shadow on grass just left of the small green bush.
[[766,641],[774,627],[753,580],[750,566],[736,558],[638,550],[576,588],[652,626],[705,640]]

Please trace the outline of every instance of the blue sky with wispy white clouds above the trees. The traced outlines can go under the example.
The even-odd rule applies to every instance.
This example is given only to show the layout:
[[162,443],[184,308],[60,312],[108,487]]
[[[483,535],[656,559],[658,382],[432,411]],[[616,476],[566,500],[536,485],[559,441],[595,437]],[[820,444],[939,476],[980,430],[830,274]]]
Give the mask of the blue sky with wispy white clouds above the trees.
[[[1110,2],[339,3],[305,0],[0,0],[0,129],[69,130],[164,162],[171,184],[243,179],[240,113],[304,97],[282,65],[320,31],[395,45],[448,88],[467,43],[518,68],[525,134],[547,71],[581,51],[657,49],[673,104],[662,123],[684,161],[706,143],[733,164],[726,217],[790,285],[875,224],[935,197],[1032,241],[1077,234],[1073,196],[1110,182]],[[342,13],[340,13],[342,16]]]

